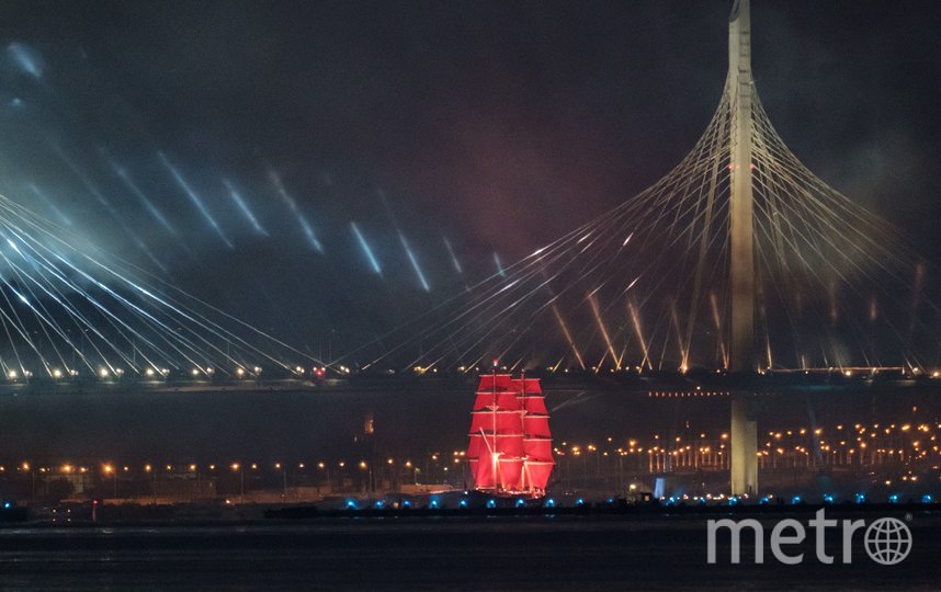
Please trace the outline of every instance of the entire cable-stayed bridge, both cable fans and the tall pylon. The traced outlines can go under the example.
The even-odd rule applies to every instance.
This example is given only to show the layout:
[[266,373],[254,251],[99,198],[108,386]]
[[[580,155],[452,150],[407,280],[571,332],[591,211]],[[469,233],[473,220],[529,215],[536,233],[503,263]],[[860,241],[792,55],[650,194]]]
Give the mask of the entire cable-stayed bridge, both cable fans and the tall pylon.
[[[248,379],[347,365],[470,373],[495,357],[510,368],[596,374],[916,372],[941,351],[926,263],[902,232],[814,175],[773,128],[751,78],[747,0],[733,10],[718,107],[680,163],[338,360],[293,349],[5,198],[0,265],[9,380]],[[739,452],[753,447],[749,395],[758,388],[740,390]],[[757,487],[748,457],[738,457],[734,492]]]

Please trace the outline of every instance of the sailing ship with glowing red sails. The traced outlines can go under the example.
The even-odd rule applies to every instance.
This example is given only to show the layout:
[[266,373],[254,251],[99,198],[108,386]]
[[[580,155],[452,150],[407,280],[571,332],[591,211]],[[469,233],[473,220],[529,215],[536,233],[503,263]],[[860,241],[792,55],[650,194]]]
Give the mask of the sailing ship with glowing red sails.
[[480,376],[470,412],[467,459],[477,491],[545,494],[553,459],[548,411],[538,378]]

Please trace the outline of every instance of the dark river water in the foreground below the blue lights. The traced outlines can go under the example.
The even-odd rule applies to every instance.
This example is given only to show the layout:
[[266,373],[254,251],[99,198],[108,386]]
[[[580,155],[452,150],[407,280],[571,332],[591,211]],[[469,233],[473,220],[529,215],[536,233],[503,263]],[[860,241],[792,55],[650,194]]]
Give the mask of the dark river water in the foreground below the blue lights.
[[[705,524],[705,516],[688,515],[3,528],[0,589],[932,590],[941,583],[941,519],[909,522],[912,550],[896,566],[873,562],[861,538],[851,565],[839,556],[820,563],[813,540],[798,566],[770,557],[756,565],[747,540],[742,563],[730,565],[722,539],[718,563],[708,565]],[[836,554],[840,539],[830,531],[827,549]]]

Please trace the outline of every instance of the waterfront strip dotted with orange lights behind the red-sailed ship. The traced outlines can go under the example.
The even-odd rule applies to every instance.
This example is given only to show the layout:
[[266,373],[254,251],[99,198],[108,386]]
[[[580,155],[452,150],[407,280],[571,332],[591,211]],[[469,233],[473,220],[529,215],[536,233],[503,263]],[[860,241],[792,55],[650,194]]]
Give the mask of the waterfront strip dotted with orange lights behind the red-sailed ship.
[[[914,418],[919,412],[912,409]],[[923,414],[923,413],[922,413]],[[829,494],[885,501],[941,496],[941,423],[853,423],[767,426],[759,452],[763,488],[770,493],[819,497],[817,478],[830,480]],[[623,496],[653,490],[667,477],[679,496],[719,499],[728,471],[727,432],[688,429],[631,436],[558,442],[551,491]],[[225,500],[315,502],[342,494],[374,497],[466,489],[465,449],[434,449],[413,457],[376,449],[375,455],[303,459],[213,458],[195,453],[186,460],[19,459],[0,465],[0,487],[19,503],[106,500],[107,503],[169,503]],[[199,459],[199,460],[196,460]],[[682,486],[679,483],[683,483]],[[673,494],[672,490],[665,496]]]

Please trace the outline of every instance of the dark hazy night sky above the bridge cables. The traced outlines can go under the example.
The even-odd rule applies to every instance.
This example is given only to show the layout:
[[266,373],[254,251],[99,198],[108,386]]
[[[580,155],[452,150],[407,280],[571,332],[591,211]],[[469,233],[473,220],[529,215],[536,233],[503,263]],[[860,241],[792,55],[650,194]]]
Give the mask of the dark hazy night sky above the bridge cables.
[[[156,271],[138,234],[177,285],[292,343],[353,344],[666,173],[719,99],[730,3],[7,0],[0,192]],[[778,132],[933,261],[938,31],[930,1],[752,2]]]

